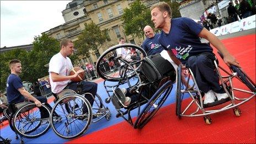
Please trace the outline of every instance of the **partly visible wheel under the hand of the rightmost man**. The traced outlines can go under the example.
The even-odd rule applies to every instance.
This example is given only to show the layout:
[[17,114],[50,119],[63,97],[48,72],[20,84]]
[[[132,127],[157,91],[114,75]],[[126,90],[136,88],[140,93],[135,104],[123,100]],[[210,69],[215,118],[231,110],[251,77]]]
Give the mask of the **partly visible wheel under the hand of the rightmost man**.
[[231,70],[233,72],[237,72],[237,76],[238,78],[244,83],[246,84],[246,86],[252,90],[252,92],[256,92],[256,88],[255,88],[255,83],[252,81],[252,79],[250,79],[247,74],[245,72],[243,72],[240,68],[238,68],[237,66],[231,66]]

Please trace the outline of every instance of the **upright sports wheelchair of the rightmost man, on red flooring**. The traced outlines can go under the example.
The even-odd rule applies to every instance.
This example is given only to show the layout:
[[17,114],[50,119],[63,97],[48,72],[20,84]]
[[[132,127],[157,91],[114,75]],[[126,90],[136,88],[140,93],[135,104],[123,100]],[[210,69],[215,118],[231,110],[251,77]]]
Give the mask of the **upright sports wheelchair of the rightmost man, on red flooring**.
[[[218,52],[218,54],[223,58],[220,52]],[[255,97],[255,83],[247,76],[242,68],[231,65],[229,72],[227,69],[218,65],[217,58],[214,61],[214,65],[216,67],[216,73],[220,78],[221,86],[228,94],[228,98],[218,100],[214,103],[204,104],[204,100],[202,100],[204,94],[200,92],[193,72],[191,72],[190,68],[187,69],[189,71],[189,76],[186,84],[183,83],[181,79],[182,66],[180,65],[178,67],[176,91],[176,115],[179,119],[182,116],[204,116],[204,121],[206,124],[210,125],[212,122],[209,116],[210,114],[220,113],[221,111],[228,109],[233,109],[234,115],[238,117],[241,116],[242,113],[238,106]],[[189,101],[183,102],[187,97],[192,98],[188,105],[186,104]],[[212,109],[210,109],[210,107],[212,107]]]

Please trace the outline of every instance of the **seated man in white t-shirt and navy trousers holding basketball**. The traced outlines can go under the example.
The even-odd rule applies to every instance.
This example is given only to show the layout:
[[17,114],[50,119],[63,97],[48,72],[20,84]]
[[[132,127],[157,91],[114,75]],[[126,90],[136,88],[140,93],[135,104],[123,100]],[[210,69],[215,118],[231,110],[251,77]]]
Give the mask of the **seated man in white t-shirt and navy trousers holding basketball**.
[[[71,82],[70,79],[77,77],[77,75],[84,70],[77,71],[74,75],[69,76],[70,71],[73,68],[72,62],[68,56],[72,55],[74,51],[74,45],[72,40],[63,39],[61,41],[61,50],[58,54],[52,56],[49,62],[49,78],[51,84],[51,91],[56,94],[60,93],[63,89],[72,89],[77,92],[77,82]],[[97,83],[94,82],[82,82],[82,92],[91,93],[94,95],[97,93]],[[85,95],[84,97],[93,105],[94,98],[90,95]],[[86,113],[86,111],[84,111]]]

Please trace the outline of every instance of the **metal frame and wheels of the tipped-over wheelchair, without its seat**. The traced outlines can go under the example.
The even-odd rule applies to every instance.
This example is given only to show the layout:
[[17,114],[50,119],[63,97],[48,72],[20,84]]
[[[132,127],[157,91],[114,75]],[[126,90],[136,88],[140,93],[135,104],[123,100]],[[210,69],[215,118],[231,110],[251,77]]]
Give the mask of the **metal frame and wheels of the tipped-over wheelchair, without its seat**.
[[[105,79],[104,88],[106,90],[106,93],[108,93],[108,98],[105,99],[106,103],[109,103],[110,99],[113,99],[114,97],[118,100],[118,102],[121,102],[120,98],[117,97],[116,94],[114,93],[114,89],[119,87],[121,84],[127,83],[130,88],[133,88],[134,91],[136,91],[139,94],[139,98],[138,98],[139,100],[135,103],[130,104],[129,106],[125,106],[124,104],[120,103],[121,106],[125,108],[125,110],[116,109],[118,111],[118,114],[116,115],[116,117],[117,118],[122,117],[135,129],[141,129],[143,126],[147,124],[147,122],[149,122],[153,118],[154,114],[157,113],[159,108],[161,108],[162,104],[165,102],[168,95],[170,94],[170,91],[172,90],[173,83],[171,81],[167,81],[156,91],[156,93],[152,95],[150,99],[147,99],[141,94],[141,92],[138,92],[138,89],[143,89],[143,87],[145,87],[147,84],[153,84],[156,81],[148,82],[148,83],[141,82],[140,76],[138,74],[140,73],[140,71],[137,71],[137,70],[138,68],[140,68],[141,62],[143,60],[127,62],[126,60],[123,60],[120,56],[114,57],[114,60],[119,60],[125,63],[125,66],[124,66],[125,70],[121,70],[121,68],[119,70],[120,77],[111,77],[111,75],[107,76],[106,74],[103,74],[99,69],[99,63],[101,62],[103,57],[105,57],[110,53],[110,51],[114,51],[121,47],[132,47],[132,48],[138,49],[142,52],[144,57],[147,56],[146,52],[141,47],[138,47],[136,45],[133,45],[133,44],[116,45],[116,46],[110,47],[99,57],[97,61],[96,69],[97,69],[98,75],[103,79]],[[135,69],[133,65],[138,65],[138,66]],[[132,73],[127,74],[126,73],[127,70],[132,71]],[[137,76],[138,80],[134,86],[131,86],[129,79],[135,76]],[[118,82],[118,84],[113,84],[111,86],[108,86],[106,84],[107,81]],[[113,95],[111,95],[110,93],[113,93]],[[142,105],[143,106],[145,105],[145,107],[142,107]],[[134,109],[137,109],[137,119],[135,121],[132,120],[131,118],[131,111]]]

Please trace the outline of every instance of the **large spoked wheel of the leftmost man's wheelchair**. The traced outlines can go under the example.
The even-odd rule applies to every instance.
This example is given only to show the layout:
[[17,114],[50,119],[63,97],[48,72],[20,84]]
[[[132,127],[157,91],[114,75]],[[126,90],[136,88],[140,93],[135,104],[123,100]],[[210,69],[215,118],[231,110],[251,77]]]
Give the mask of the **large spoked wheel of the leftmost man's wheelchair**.
[[42,105],[39,109],[34,103],[31,103],[17,110],[13,122],[19,135],[35,138],[44,135],[50,129],[49,117],[41,118],[42,110],[50,116],[50,110],[45,105]]

